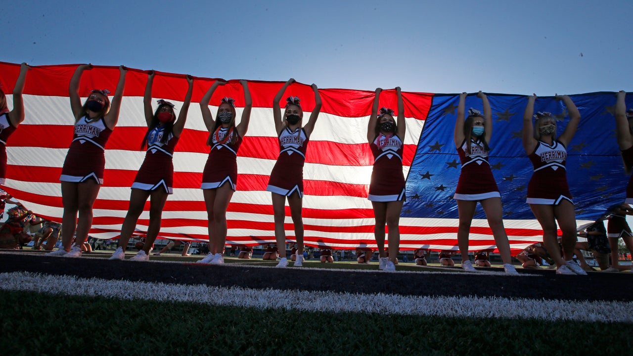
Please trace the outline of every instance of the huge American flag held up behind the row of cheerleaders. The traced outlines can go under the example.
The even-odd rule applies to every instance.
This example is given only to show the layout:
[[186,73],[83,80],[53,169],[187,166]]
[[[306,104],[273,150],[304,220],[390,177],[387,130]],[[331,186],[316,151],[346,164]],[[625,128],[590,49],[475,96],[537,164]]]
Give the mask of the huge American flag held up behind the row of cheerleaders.
[[[59,177],[73,135],[73,115],[68,84],[77,65],[32,68],[23,94],[26,118],[8,140],[5,189],[42,217],[60,221],[63,208]],[[0,83],[12,108],[11,91],[20,66],[0,62]],[[173,156],[174,194],[165,205],[160,236],[207,241],[207,215],[200,188],[208,156],[208,131],[198,107],[215,79],[195,78],[187,124]],[[91,89],[114,91],[118,68],[95,66],[82,75],[82,101]],[[130,186],[145,152],[139,150],[146,122],[143,94],[147,72],[130,68],[118,124],[106,146],[104,184],[94,204],[91,236],[115,238],[127,212]],[[318,84],[318,83],[317,83]],[[273,97],[283,82],[249,82],[253,110],[237,157],[238,179],[227,212],[227,243],[260,245],[275,241],[268,177],[279,155],[273,123]],[[185,75],[156,73],[154,99],[166,99],[180,108]],[[304,166],[303,220],[305,243],[339,249],[375,247],[373,210],[367,200],[373,158],[367,143],[367,123],[373,91],[319,89],[321,113]],[[314,107],[310,85],[292,84],[285,96],[299,96],[304,111]],[[235,98],[237,117],[244,106],[239,80],[229,80],[211,98],[215,115],[224,96]],[[457,249],[456,203],[451,198],[460,172],[453,143],[457,94],[403,92],[406,137],[403,166],[407,201],[400,219],[401,248]],[[513,253],[534,241],[542,231],[525,203],[531,165],[520,142],[525,96],[489,94],[494,120],[491,165],[505,210],[505,226]],[[613,134],[613,93],[574,95],[582,115],[579,130],[568,148],[568,178],[577,206],[578,224],[597,219],[608,205],[624,200],[627,177],[622,169]],[[153,101],[155,103],[155,100]],[[283,104],[283,103],[282,103]],[[154,104],[155,105],[155,104]],[[396,109],[396,93],[385,90],[380,106]],[[468,97],[467,107],[480,100]],[[553,98],[539,98],[535,110],[551,111],[562,122],[565,108]],[[396,113],[397,114],[397,113]],[[563,129],[559,125],[559,133]],[[149,208],[149,203],[146,205]],[[141,215],[137,234],[147,229],[149,213]],[[285,230],[293,241],[294,230],[286,207]],[[471,250],[494,248],[485,215],[477,210],[470,234]]]

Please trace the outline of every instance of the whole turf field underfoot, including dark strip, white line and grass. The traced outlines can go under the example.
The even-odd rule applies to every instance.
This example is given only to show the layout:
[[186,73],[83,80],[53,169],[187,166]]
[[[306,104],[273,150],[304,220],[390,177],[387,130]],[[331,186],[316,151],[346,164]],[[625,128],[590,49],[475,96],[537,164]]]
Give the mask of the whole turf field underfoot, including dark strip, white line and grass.
[[[619,312],[630,315],[630,272],[589,272],[585,277],[518,268],[520,276],[506,276],[500,268],[469,274],[459,268],[400,264],[398,272],[387,273],[379,272],[377,264],[324,265],[316,261],[306,261],[302,268],[275,269],[268,268],[275,262],[228,257],[226,265],[199,265],[192,262],[201,257],[175,254],[152,256],[151,262],[108,261],[105,257],[111,252],[53,258],[38,251],[0,251],[0,273],[25,273],[18,281],[23,278],[24,284],[33,288],[57,284],[62,290],[78,290],[90,284],[88,289],[99,289],[91,283],[101,281],[120,285],[118,289],[125,295],[85,295],[83,291],[73,295],[3,287],[0,350],[6,355],[626,355],[633,346],[630,319],[605,322],[598,314],[592,319],[589,309],[588,317],[581,321],[565,320],[564,316],[570,305],[587,302],[615,303],[612,310],[622,308]],[[76,280],[68,281],[69,276]],[[58,277],[66,279],[57,282]],[[8,283],[3,281],[3,285]],[[181,289],[176,293],[180,294],[206,293],[206,289],[187,289],[201,286],[219,289],[209,292],[218,293],[210,301],[202,302],[193,297],[173,300],[171,295],[154,299],[134,296],[135,289],[156,288],[154,285],[178,286]],[[147,295],[162,293],[159,289],[149,289]],[[223,295],[232,298],[230,293],[236,290],[244,294],[246,303],[214,302]],[[261,300],[271,293],[270,302]],[[356,299],[303,303],[312,295],[328,293]],[[435,304],[430,305],[438,307],[429,307],[437,310],[429,310],[427,315],[411,314],[393,305],[391,296],[413,298],[409,302],[413,307],[425,303],[419,298],[434,298]],[[534,317],[506,316],[494,313],[494,307],[480,315],[475,312],[482,310],[480,306],[472,307],[468,314],[468,304],[453,308],[452,302],[448,307],[441,303],[462,303],[459,300],[464,297],[502,303],[518,300],[513,308],[527,309],[528,315],[533,310]],[[258,301],[249,304],[253,300]],[[544,305],[542,308],[549,309],[542,312],[536,310],[541,302],[553,304]],[[351,309],[355,303],[373,305],[368,305],[368,310],[332,311],[328,303],[347,303],[341,307]],[[460,310],[465,314],[458,315]],[[542,315],[549,314],[563,317],[543,319]]]

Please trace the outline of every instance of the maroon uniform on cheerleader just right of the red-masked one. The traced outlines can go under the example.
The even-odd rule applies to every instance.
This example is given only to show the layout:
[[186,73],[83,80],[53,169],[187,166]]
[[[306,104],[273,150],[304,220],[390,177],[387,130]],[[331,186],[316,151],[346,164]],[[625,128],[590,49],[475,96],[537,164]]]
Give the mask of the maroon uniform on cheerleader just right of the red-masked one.
[[[216,189],[229,183],[231,189],[235,191],[237,150],[242,144],[242,137],[237,134],[237,129],[233,128],[232,132],[230,131],[230,127],[220,127],[211,134],[211,151],[204,165],[200,189]],[[234,137],[235,143],[231,143]]]

